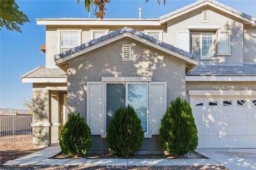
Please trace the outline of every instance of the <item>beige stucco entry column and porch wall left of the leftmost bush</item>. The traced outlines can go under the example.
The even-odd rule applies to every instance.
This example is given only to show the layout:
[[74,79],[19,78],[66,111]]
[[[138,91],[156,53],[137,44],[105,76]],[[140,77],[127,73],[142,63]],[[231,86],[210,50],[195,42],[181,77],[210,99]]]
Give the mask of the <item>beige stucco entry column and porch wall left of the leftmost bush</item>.
[[[59,92],[49,91],[47,86],[67,86],[67,83],[33,83],[33,123],[58,123]],[[33,127],[33,144],[44,148],[59,138],[58,126]]]

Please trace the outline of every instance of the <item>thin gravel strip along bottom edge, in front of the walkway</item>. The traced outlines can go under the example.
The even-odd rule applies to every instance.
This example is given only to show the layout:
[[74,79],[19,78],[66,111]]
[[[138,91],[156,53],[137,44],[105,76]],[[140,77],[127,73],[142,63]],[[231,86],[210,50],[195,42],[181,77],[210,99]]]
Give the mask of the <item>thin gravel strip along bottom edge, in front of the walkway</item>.
[[[9,170],[9,169],[22,169],[22,170],[32,170],[32,169],[43,169],[43,170],[59,170],[59,169],[71,169],[71,170],[81,170],[81,169],[118,169],[111,168],[107,166],[2,166],[1,169]],[[123,167],[123,169],[143,169],[143,170],[228,170],[223,166],[127,166],[127,168]]]

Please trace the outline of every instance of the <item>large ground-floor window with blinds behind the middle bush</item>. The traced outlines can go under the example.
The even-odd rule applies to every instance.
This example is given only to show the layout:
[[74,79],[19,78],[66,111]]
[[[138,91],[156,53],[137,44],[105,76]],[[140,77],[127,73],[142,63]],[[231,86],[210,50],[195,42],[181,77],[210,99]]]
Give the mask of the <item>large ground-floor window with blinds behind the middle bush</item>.
[[106,128],[116,109],[131,105],[141,120],[142,130],[148,133],[148,83],[106,83]]

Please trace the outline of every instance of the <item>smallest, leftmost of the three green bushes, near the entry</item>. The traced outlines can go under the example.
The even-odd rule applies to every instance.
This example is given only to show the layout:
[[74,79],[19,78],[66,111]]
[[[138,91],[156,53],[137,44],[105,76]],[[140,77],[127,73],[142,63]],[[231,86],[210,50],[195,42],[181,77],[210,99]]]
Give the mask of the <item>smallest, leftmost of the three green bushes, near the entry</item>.
[[77,157],[86,154],[91,145],[91,130],[84,118],[79,113],[70,114],[68,121],[60,130],[60,148],[62,152]]

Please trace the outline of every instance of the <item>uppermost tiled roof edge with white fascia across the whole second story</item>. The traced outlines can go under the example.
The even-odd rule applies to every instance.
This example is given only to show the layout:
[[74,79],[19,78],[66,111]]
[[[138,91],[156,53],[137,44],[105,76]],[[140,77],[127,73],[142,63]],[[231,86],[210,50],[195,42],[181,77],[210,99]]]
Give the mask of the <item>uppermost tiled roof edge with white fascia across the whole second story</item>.
[[[238,11],[230,6],[227,6],[225,4],[219,3],[218,1],[214,0],[199,0],[195,3],[189,4],[185,7],[179,8],[176,11],[173,11],[169,14],[165,14],[163,16],[160,16],[158,19],[139,19],[139,18],[103,18],[103,20],[99,18],[38,18],[36,19],[37,24],[95,24],[94,22],[99,22],[101,25],[127,25],[127,22],[129,22],[130,25],[161,25],[161,23],[164,23],[168,20],[171,20],[173,18],[176,18],[180,15],[186,14],[190,11],[196,10],[199,7],[209,5],[214,8],[217,8],[223,12],[226,12],[230,15],[235,16],[236,18],[242,19],[246,21],[247,23],[251,23],[252,25],[256,25],[256,18],[253,18],[251,15],[247,15],[241,11]],[[56,21],[56,22],[55,22]],[[67,22],[66,22],[67,21]],[[92,21],[92,23],[90,22]],[[106,23],[105,23],[106,21]],[[115,22],[109,22],[109,21],[116,21]],[[125,21],[124,23],[120,21]]]

